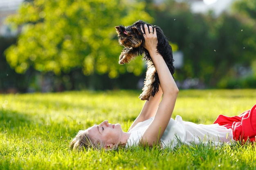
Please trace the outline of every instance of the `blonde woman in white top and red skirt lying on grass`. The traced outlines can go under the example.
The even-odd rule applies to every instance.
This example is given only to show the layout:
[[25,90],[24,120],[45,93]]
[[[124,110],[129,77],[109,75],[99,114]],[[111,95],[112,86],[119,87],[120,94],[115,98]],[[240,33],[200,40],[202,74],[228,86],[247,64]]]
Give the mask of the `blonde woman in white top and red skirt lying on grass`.
[[[145,48],[150,53],[159,75],[159,92],[145,102],[139,116],[128,132],[120,124],[109,124],[107,120],[86,130],[80,130],[71,141],[73,150],[84,148],[114,149],[117,146],[160,146],[171,147],[178,141],[184,144],[206,142],[218,145],[232,141],[255,141],[256,105],[239,116],[218,116],[210,125],[183,121],[182,117],[171,118],[179,93],[162,56],[157,53],[157,33],[151,26],[144,25]],[[148,31],[149,29],[149,31]],[[142,26],[141,31],[143,32]],[[161,100],[162,98],[162,100]]]

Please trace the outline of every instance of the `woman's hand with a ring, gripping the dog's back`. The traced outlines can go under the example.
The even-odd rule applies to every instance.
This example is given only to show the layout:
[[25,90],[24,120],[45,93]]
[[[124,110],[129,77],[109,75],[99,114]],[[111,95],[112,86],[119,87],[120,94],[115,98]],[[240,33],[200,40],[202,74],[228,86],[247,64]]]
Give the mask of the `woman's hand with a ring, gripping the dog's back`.
[[[152,26],[147,26],[147,24],[144,24],[145,33],[142,29],[142,25],[140,26],[140,29],[143,33],[145,44],[144,48],[148,50],[149,53],[156,53],[157,52],[157,31]],[[148,31],[149,29],[149,31]]]

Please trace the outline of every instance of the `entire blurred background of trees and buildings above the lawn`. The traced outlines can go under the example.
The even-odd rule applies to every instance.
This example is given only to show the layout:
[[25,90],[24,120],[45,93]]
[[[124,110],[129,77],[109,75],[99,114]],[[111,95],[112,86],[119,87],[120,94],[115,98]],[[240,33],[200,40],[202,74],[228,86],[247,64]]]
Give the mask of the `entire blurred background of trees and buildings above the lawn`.
[[180,89],[256,88],[254,0],[0,0],[0,93],[141,89],[115,26],[144,20],[173,47]]

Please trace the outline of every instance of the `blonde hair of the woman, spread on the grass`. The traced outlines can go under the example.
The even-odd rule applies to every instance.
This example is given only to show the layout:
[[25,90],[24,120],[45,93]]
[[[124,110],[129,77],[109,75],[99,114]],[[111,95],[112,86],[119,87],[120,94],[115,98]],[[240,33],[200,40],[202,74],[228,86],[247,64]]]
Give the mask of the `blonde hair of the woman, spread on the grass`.
[[70,142],[70,149],[77,151],[88,150],[89,148],[101,150],[104,146],[102,141],[90,136],[87,129],[79,130]]

